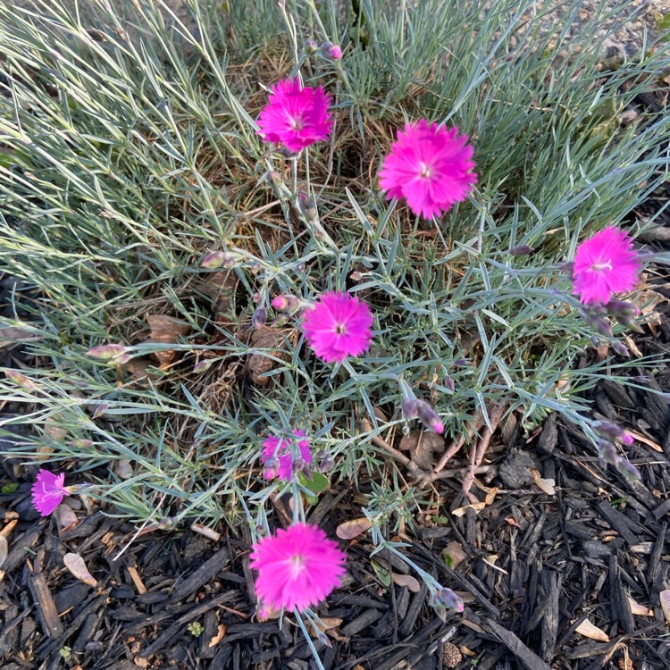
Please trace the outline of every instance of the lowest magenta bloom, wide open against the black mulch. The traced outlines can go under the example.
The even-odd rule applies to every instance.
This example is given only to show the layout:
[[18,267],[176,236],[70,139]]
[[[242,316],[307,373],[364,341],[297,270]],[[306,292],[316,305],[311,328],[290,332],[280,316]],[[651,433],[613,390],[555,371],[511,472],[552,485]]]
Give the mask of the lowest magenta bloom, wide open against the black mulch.
[[264,607],[302,612],[337,588],[345,573],[344,552],[318,526],[297,523],[252,546],[255,590]]

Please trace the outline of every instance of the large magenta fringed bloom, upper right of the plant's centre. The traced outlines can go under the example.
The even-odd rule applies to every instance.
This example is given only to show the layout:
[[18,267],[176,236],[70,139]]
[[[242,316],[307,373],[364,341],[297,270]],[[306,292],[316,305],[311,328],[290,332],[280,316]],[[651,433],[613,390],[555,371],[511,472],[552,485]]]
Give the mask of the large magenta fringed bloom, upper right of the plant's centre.
[[387,198],[405,197],[407,206],[426,219],[440,216],[462,202],[477,183],[471,172],[473,147],[458,129],[428,121],[406,123],[398,130],[389,155],[384,158],[380,186]]

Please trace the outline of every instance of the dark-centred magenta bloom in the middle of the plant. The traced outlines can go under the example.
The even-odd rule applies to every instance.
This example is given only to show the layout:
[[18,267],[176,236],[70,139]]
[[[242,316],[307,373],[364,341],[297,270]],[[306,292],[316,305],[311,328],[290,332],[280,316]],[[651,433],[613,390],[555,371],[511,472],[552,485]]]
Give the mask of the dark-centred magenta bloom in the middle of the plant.
[[314,353],[326,363],[360,356],[370,348],[373,314],[347,293],[324,293],[303,315],[303,331]]

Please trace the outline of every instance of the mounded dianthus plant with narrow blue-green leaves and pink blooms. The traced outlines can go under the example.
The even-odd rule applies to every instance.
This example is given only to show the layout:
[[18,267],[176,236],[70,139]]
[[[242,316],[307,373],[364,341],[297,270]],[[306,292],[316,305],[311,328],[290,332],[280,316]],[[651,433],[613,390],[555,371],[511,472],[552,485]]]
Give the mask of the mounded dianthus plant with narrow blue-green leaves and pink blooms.
[[464,441],[476,499],[504,415],[562,413],[634,475],[581,394],[635,383],[630,213],[666,179],[670,121],[623,112],[666,86],[661,48],[603,68],[605,10],[565,41],[581,2],[554,26],[518,0],[199,2],[192,31],[98,4],[95,27],[60,1],[0,8],[0,264],[19,280],[0,337],[24,346],[0,388],[21,408],[5,433],[33,428],[4,456],[138,524],[256,539],[278,494],[299,529],[329,481],[371,481],[361,515],[394,551]]

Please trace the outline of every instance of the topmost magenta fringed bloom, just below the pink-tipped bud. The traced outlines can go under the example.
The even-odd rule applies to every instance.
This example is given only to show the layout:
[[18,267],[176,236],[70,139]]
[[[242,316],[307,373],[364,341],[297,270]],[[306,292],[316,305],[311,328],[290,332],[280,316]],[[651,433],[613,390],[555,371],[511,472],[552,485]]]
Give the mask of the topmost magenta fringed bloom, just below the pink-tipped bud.
[[328,139],[332,120],[329,96],[322,87],[300,88],[298,80],[281,80],[270,88],[268,104],[258,117],[266,142],[283,144],[290,152]]

